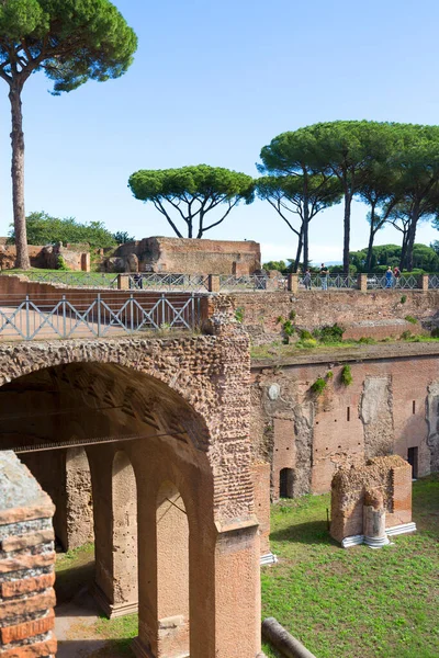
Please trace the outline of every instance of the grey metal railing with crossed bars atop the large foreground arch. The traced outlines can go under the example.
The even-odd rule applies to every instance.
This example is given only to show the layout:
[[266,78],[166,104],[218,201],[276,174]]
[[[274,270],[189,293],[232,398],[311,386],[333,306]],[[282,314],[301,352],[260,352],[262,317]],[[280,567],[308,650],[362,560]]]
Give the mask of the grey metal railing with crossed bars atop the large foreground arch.
[[194,329],[200,324],[200,297],[162,294],[154,298],[117,295],[81,300],[33,300],[26,296],[0,300],[0,340],[111,338],[137,331]]

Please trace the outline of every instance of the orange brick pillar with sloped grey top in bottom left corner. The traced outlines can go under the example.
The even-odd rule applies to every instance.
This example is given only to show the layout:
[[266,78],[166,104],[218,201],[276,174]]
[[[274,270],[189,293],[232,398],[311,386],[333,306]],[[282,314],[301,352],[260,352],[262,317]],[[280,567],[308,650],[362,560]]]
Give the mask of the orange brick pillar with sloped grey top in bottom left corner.
[[0,655],[55,656],[55,508],[12,452],[0,453]]

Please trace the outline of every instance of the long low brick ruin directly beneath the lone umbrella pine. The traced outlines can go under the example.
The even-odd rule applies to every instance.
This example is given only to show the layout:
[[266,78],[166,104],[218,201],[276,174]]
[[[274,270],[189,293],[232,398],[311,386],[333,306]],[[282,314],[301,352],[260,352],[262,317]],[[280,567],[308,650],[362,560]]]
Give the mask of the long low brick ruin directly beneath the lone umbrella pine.
[[121,245],[103,263],[108,271],[238,276],[252,274],[260,266],[260,245],[252,240],[235,242],[161,237]]

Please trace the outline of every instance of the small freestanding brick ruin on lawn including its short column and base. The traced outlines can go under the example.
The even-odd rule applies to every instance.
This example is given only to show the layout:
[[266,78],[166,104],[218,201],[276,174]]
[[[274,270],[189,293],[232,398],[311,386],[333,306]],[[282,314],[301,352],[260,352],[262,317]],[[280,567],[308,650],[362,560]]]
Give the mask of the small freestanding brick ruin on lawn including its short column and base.
[[383,523],[382,531],[390,534],[412,532],[416,526],[412,523],[409,464],[393,455],[374,457],[364,466],[340,468],[331,483],[330,510],[330,534],[337,542],[350,538],[345,545],[361,543],[368,532],[382,534],[380,527],[372,527],[374,524]]

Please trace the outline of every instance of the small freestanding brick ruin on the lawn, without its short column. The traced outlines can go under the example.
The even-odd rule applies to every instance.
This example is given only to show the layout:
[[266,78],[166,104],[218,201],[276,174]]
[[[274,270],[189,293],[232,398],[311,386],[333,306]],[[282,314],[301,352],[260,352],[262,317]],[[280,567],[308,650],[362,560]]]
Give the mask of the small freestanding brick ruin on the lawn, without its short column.
[[412,468],[394,455],[375,457],[357,468],[341,468],[331,483],[330,534],[341,542],[363,534],[367,491],[380,491],[384,499],[385,527],[412,521]]

